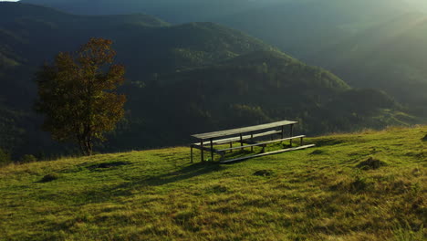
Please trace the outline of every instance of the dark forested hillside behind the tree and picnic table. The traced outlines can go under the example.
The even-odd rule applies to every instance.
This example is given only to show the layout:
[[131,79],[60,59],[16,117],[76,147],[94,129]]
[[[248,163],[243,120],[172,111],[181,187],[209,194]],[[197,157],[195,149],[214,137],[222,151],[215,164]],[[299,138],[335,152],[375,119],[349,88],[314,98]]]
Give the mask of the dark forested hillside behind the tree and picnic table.
[[[350,89],[325,69],[212,23],[169,26],[151,16],[74,16],[0,3],[0,35],[7,63],[0,69],[0,99],[9,113],[23,112],[16,123],[28,126],[19,135],[19,154],[74,152],[58,149],[39,130],[32,79],[44,61],[89,37],[112,39],[117,62],[127,68],[120,89],[128,96],[126,120],[99,147],[102,152],[183,144],[196,131],[262,121],[300,120],[301,130],[311,134],[414,121],[380,91]],[[372,102],[353,104],[364,100]]]

